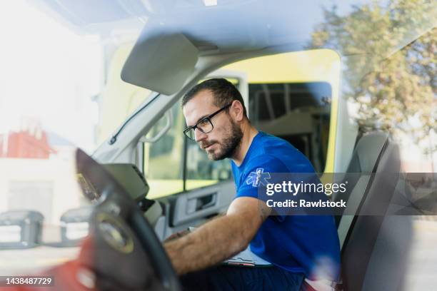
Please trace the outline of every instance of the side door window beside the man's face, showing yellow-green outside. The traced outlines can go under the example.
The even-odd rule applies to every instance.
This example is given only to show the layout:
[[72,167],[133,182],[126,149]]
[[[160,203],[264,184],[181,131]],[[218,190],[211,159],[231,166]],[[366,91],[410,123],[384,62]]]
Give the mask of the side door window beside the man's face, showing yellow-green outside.
[[[185,118],[181,102],[174,104],[170,111],[173,120],[169,131],[155,143],[144,143],[144,175],[150,185],[147,197],[161,198],[231,178],[228,160],[211,162],[204,150],[182,133]],[[156,136],[166,122],[164,116],[146,137]]]

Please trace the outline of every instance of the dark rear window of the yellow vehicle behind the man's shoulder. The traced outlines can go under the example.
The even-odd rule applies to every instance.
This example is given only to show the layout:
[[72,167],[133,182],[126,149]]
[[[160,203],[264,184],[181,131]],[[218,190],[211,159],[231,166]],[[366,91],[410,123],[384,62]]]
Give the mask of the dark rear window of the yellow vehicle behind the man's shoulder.
[[331,96],[326,82],[249,83],[249,119],[259,130],[291,143],[323,172]]

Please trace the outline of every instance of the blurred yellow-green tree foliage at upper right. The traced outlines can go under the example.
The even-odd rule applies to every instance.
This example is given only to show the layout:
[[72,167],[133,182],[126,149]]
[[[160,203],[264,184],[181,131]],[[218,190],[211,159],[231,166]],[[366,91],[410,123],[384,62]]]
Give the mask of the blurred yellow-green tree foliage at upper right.
[[325,9],[311,47],[343,56],[348,98],[359,106],[363,128],[406,133],[417,142],[437,128],[437,6],[393,0],[353,7],[340,16]]

